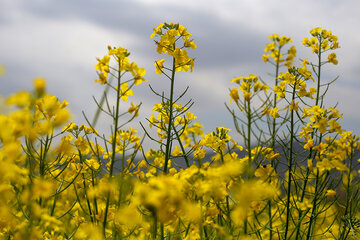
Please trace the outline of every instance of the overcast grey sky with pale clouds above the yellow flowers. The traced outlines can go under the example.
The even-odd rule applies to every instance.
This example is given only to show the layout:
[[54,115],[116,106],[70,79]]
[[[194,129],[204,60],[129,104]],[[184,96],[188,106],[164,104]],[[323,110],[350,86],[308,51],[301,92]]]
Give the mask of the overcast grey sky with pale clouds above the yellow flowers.
[[[323,27],[339,37],[341,46],[339,64],[324,69],[324,81],[339,76],[328,106],[339,102],[343,127],[359,134],[359,9],[358,0],[0,0],[0,63],[7,70],[0,95],[30,90],[35,77],[45,77],[48,91],[68,100],[74,120],[83,123],[81,111],[91,116],[92,96],[102,91],[94,84],[94,65],[107,45],[127,48],[130,59],[146,68],[148,83],[165,90],[168,81],[154,73],[153,65],[162,56],[149,36],[160,22],[172,21],[187,27],[198,45],[188,53],[196,58],[194,72],[178,74],[177,90],[191,87],[185,100],[195,101],[192,112],[206,131],[233,128],[224,107],[233,86],[229,81],[250,73],[271,81],[267,73],[274,70],[261,59],[267,36],[291,37],[298,57],[305,58],[311,50],[301,46],[303,37]],[[139,120],[145,122],[159,99],[144,84],[130,101],[143,102]]]

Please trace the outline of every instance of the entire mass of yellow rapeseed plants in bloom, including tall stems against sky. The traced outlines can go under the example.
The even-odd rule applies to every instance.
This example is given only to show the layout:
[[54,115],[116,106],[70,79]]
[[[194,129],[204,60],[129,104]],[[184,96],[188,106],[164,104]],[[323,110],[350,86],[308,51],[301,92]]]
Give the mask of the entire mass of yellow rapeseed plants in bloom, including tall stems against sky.
[[[43,78],[33,91],[8,96],[0,239],[358,239],[360,141],[342,128],[339,110],[325,106],[330,83],[320,78],[322,65],[337,64],[334,53],[325,62],[321,54],[339,43],[321,28],[310,34],[303,43],[317,63],[295,67],[295,47],[281,53],[292,40],[274,34],[263,55],[275,67],[269,85],[254,74],[231,80],[234,129],[204,132],[193,102],[180,103],[187,89],[175,97],[175,73],[192,71],[186,49],[196,45],[174,23],[151,35],[173,65],[155,61],[171,85],[169,95],[151,88],[161,102],[141,123],[143,137],[128,126],[141,103],[128,100],[146,71],[122,47],[97,60],[95,82],[106,88],[87,124],[69,122],[69,103],[47,93]],[[112,121],[108,136],[96,130],[102,113]],[[144,149],[146,139],[159,147]]]

